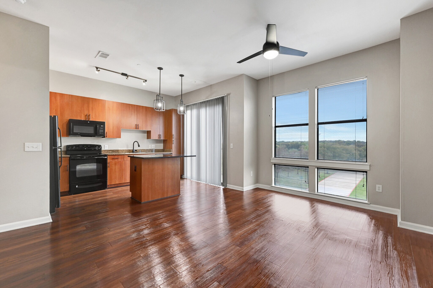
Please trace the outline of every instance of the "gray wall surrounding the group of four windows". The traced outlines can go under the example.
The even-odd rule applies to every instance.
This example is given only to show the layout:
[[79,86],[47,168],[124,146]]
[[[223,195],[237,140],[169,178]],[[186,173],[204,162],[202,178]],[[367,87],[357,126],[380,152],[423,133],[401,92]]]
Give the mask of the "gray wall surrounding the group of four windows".
[[[368,200],[400,207],[400,44],[384,43],[271,77],[271,95],[309,89],[309,125],[315,125],[315,87],[367,76]],[[272,184],[272,98],[269,78],[258,81],[258,183]],[[309,130],[309,158],[315,159]],[[311,171],[311,169],[310,169]],[[314,171],[314,170],[313,170]],[[310,173],[311,174],[311,173]],[[312,175],[310,175],[312,176]],[[310,189],[315,183],[310,178]],[[314,177],[313,177],[314,179]],[[375,192],[381,184],[383,192]]]

